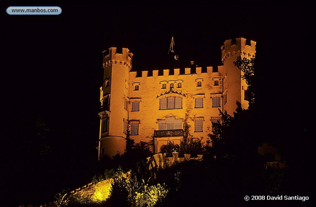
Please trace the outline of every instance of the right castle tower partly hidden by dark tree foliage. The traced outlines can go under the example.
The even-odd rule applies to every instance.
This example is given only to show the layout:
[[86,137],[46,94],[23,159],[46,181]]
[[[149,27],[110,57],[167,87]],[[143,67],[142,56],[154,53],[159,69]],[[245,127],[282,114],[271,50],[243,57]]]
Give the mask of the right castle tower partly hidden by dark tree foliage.
[[241,58],[253,58],[256,52],[256,42],[250,41],[250,45],[246,45],[245,38],[236,38],[236,43],[232,40],[226,40],[222,49],[222,63],[223,66],[223,110],[228,114],[233,114],[237,108],[237,103],[241,103],[241,107],[248,108],[247,100],[247,84],[241,78],[243,72],[234,66],[238,56]]

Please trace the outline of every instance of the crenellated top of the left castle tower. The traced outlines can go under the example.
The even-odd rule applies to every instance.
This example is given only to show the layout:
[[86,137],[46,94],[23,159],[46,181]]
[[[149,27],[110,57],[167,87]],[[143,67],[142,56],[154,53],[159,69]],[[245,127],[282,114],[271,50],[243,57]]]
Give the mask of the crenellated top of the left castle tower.
[[123,48],[122,53],[116,52],[116,47],[111,47],[109,50],[103,51],[103,68],[112,64],[126,65],[131,69],[133,53],[129,52],[128,48]]

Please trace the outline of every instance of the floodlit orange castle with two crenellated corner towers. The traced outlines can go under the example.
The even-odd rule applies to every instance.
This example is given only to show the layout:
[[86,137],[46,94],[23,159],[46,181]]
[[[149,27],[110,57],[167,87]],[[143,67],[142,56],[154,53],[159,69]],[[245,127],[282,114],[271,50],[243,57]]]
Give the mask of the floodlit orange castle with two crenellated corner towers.
[[[123,48],[122,54],[115,47],[103,52],[104,82],[100,87],[99,160],[105,155],[124,153],[126,135],[136,143],[154,140],[154,153],[170,141],[180,145],[184,136],[206,141],[212,133],[212,123],[220,120],[219,110],[232,114],[239,102],[248,107],[247,84],[242,71],[234,66],[236,57],[253,58],[256,42],[236,38],[226,40],[221,47],[222,66],[218,70],[200,67],[174,69],[174,74],[163,70],[131,71],[133,53]],[[129,130],[127,130],[129,129]]]

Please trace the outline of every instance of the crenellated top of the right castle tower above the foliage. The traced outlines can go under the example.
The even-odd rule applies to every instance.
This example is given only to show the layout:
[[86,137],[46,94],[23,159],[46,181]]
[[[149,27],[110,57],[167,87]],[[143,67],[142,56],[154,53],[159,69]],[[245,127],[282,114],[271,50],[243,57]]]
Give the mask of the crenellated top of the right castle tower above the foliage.
[[247,58],[255,57],[256,53],[256,42],[250,41],[250,45],[246,45],[245,38],[236,38],[236,43],[232,44],[232,40],[225,40],[224,45],[221,47],[222,50],[222,63],[225,62],[226,58],[232,56],[242,56]]

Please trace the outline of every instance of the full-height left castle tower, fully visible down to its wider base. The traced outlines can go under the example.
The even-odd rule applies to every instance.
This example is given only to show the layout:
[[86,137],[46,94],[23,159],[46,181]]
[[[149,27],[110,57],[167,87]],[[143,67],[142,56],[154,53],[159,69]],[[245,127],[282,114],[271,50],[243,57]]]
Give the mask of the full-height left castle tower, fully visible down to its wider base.
[[111,47],[108,53],[103,52],[99,160],[104,155],[112,156],[125,151],[132,56],[127,48],[123,48],[122,54],[116,52],[116,47]]

